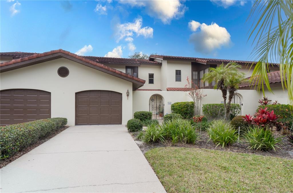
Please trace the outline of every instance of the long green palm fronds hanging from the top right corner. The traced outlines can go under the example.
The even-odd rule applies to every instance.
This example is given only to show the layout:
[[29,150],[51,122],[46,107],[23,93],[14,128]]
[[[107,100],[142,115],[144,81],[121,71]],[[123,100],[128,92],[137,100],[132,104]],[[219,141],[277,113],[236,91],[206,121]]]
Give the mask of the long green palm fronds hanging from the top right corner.
[[293,0],[255,1],[249,18],[254,16],[256,19],[249,39],[255,36],[252,54],[258,62],[253,70],[252,81],[261,83],[258,89],[263,89],[265,82],[272,92],[266,71],[269,67],[267,63],[269,60],[280,63],[282,86],[288,89],[289,103],[293,105]]

